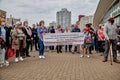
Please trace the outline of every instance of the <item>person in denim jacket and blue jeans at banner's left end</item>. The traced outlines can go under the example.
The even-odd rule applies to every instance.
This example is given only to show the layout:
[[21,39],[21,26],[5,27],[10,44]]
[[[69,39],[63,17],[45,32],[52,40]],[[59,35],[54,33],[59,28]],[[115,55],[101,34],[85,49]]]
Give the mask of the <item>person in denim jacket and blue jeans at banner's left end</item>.
[[45,22],[42,20],[40,21],[38,28],[37,28],[37,34],[38,34],[38,44],[40,46],[39,48],[39,58],[45,58],[44,56],[44,43],[43,43],[43,36],[45,33],[48,32],[47,28],[44,26]]

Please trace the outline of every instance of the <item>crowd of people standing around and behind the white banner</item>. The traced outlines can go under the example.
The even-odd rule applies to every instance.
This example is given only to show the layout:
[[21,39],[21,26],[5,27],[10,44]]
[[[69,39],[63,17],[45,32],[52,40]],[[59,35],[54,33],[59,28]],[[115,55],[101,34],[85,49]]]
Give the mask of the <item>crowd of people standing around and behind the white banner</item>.
[[[85,39],[83,45],[57,45],[47,46],[50,51],[57,51],[58,54],[69,51],[72,54],[79,53],[80,57],[85,55],[89,58],[93,51],[96,51],[101,56],[104,56],[103,62],[107,62],[110,51],[109,44],[112,45],[113,61],[119,63],[117,57],[120,53],[120,25],[114,24],[114,18],[109,18],[105,25],[100,24],[98,29],[95,29],[91,23],[85,25],[81,30],[78,24],[71,25],[70,29],[65,27],[62,29],[58,25],[45,27],[45,22],[40,21],[39,24],[29,26],[28,21],[17,21],[13,27],[6,26],[5,21],[2,21],[0,26],[0,67],[9,65],[7,56],[8,50],[12,48],[15,54],[15,62],[24,61],[24,58],[31,57],[30,50],[33,46],[36,51],[39,51],[39,58],[45,58],[43,35],[45,33],[75,33],[83,32]],[[64,49],[63,49],[64,48]]]

